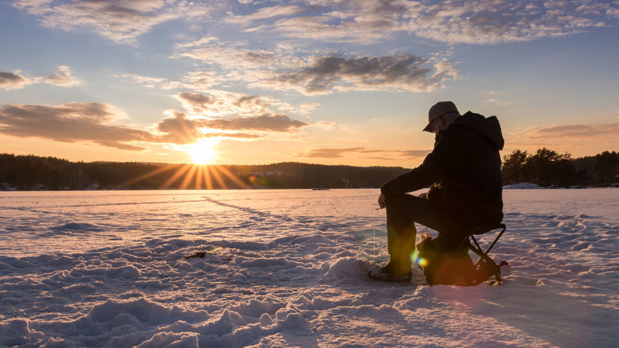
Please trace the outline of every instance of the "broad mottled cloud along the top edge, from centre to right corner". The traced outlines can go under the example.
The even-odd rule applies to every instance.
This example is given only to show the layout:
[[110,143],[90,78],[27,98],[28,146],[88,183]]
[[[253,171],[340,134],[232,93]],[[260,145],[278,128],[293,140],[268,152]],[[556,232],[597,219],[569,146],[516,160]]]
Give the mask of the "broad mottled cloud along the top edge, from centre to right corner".
[[296,39],[375,43],[411,32],[445,43],[493,44],[576,34],[616,25],[618,17],[616,1],[307,0],[263,7],[228,22]]

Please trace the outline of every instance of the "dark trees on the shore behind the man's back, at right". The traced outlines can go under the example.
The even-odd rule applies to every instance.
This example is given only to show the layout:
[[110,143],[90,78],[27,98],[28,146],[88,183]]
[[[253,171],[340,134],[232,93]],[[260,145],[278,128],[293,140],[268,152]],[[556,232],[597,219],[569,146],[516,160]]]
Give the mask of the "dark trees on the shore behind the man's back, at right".
[[619,153],[604,151],[573,159],[550,149],[515,150],[503,157],[503,184],[531,182],[540,186],[618,186]]

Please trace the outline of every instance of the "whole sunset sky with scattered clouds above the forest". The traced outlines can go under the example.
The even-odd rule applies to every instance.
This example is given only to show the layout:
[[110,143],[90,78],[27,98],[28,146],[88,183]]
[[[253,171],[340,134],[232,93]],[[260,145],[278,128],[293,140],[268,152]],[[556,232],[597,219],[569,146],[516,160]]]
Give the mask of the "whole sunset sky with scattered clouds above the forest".
[[420,164],[428,109],[502,155],[619,150],[619,1],[0,0],[0,152]]

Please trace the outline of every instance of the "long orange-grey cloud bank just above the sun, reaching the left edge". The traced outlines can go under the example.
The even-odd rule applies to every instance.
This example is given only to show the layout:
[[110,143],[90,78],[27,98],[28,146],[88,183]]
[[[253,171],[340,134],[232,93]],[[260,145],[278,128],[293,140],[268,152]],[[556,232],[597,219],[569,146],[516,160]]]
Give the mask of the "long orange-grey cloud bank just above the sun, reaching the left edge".
[[[191,97],[199,102],[196,96]],[[165,114],[165,118],[147,131],[115,124],[115,120],[126,118],[126,115],[112,105],[98,102],[0,105],[0,133],[143,151],[149,144],[191,144],[202,138],[251,140],[273,134],[281,136],[309,125],[283,113],[226,119],[189,117],[180,111],[166,111]]]

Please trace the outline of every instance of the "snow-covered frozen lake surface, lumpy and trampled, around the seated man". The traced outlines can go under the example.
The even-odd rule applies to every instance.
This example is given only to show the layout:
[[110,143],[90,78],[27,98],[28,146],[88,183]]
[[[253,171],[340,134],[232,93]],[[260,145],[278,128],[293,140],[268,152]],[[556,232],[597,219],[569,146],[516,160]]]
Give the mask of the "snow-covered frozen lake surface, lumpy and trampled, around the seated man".
[[505,191],[475,287],[369,280],[377,196],[2,192],[0,347],[619,346],[619,189]]

